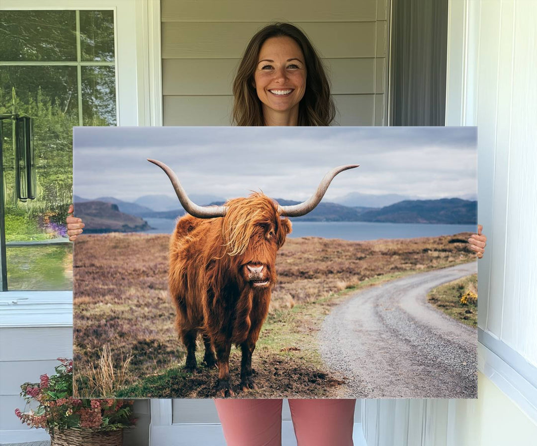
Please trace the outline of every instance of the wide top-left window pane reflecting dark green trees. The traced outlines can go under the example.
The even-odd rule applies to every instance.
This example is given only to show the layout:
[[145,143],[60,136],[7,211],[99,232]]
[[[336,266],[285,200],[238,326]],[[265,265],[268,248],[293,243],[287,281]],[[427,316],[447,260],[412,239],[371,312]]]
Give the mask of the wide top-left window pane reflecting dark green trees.
[[76,61],[75,11],[2,11],[0,60]]

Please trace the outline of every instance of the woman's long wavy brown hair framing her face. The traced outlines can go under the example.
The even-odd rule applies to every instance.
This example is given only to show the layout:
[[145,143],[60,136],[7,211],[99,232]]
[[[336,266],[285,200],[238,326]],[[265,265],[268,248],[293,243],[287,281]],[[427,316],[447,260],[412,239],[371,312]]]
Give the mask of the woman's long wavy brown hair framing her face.
[[264,126],[261,101],[253,86],[259,51],[271,37],[290,37],[302,50],[306,62],[306,91],[299,105],[299,126],[329,126],[336,115],[330,83],[321,57],[299,28],[290,23],[274,23],[258,31],[248,43],[233,82],[233,123],[237,126]]

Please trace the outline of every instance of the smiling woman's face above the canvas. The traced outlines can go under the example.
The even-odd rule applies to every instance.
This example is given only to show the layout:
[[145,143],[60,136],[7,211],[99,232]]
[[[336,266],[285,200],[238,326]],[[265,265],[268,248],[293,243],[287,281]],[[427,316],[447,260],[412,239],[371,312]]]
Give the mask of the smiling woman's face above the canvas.
[[306,61],[290,37],[272,37],[259,50],[253,79],[263,114],[298,113],[306,91]]

